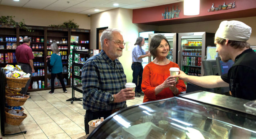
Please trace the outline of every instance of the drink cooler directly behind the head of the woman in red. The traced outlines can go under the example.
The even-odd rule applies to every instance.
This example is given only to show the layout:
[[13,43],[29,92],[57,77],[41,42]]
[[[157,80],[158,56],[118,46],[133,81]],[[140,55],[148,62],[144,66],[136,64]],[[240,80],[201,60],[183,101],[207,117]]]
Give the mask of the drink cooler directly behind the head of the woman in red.
[[[154,35],[164,35],[164,37],[166,37],[166,39],[168,40],[168,43],[170,45],[170,51],[167,55],[167,59],[169,59],[170,61],[177,63],[177,37],[178,37],[178,33],[154,33],[154,34],[149,34],[148,37],[148,44],[150,45],[150,41],[151,38]],[[150,47],[150,46],[149,46]],[[150,57],[150,62],[153,61],[154,57]]]

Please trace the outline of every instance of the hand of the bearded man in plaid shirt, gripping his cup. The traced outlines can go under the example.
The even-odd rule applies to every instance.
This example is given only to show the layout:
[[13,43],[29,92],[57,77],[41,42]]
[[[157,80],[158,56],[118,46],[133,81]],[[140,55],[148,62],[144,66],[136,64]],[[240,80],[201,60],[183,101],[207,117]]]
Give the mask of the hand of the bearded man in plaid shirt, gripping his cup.
[[122,89],[120,92],[115,94],[114,102],[124,102],[126,100],[133,100],[135,92],[132,90],[133,88]]

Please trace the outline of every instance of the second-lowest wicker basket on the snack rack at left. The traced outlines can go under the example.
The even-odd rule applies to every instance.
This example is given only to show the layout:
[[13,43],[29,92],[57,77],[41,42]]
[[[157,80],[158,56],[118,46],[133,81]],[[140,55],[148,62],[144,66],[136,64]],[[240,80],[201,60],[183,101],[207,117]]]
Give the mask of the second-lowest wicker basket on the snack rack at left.
[[9,106],[22,106],[29,96],[25,94],[8,94],[5,98]]

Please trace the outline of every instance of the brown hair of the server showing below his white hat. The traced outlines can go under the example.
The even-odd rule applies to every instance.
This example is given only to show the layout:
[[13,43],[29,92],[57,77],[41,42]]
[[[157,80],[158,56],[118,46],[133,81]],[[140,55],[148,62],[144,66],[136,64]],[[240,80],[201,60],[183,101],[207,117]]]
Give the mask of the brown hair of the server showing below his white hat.
[[[216,43],[220,45],[224,45],[226,43],[226,39],[222,39],[220,37],[216,37],[215,39]],[[244,41],[231,41],[228,40],[228,44],[232,46],[234,49],[243,49],[243,48],[250,48],[250,44]]]

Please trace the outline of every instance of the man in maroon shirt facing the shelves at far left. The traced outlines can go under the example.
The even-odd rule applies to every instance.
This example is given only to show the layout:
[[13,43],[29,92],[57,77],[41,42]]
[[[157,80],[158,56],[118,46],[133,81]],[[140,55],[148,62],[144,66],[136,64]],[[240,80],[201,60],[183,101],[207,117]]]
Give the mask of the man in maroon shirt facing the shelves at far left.
[[29,95],[29,93],[27,93],[27,90],[31,81],[31,74],[35,72],[34,66],[33,66],[34,55],[29,45],[30,45],[30,39],[28,37],[25,37],[23,39],[23,44],[19,45],[16,48],[16,53],[15,53],[17,63],[18,65],[21,66],[21,69],[23,70],[23,72],[30,73],[30,79],[28,80],[26,86],[21,90],[21,94],[27,94],[27,95]]

